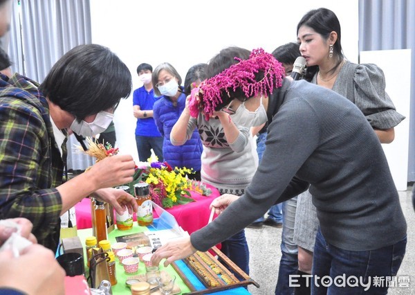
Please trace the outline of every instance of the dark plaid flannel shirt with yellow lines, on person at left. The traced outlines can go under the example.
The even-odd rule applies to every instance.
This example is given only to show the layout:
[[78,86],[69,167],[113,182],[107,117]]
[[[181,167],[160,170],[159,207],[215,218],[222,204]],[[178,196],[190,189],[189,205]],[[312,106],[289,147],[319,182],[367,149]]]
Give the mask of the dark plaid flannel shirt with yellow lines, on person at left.
[[0,78],[0,217],[26,217],[39,244],[55,251],[62,210],[55,187],[62,184],[66,141],[61,157],[37,82]]

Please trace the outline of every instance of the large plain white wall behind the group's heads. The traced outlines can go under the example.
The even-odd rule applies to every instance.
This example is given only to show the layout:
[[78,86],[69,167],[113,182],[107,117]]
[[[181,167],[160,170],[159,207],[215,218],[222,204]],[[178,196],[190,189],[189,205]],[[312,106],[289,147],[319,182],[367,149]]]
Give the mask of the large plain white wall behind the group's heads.
[[[308,10],[333,10],[342,25],[346,57],[358,61],[358,0],[91,0],[92,41],[108,46],[127,64],[133,88],[141,86],[138,64],[154,68],[169,62],[184,80],[187,69],[208,62],[222,48],[277,46],[297,39],[297,23]],[[138,161],[132,98],[120,103],[114,118],[121,153]]]

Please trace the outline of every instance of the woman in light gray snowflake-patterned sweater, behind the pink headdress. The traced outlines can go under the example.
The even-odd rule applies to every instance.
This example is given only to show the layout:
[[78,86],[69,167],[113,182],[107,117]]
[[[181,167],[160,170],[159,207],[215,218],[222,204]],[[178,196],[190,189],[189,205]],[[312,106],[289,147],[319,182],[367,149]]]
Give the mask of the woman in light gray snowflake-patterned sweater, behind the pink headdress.
[[[190,83],[200,83],[226,69],[230,63],[223,63],[219,59],[219,56],[223,58],[223,55],[230,57],[232,63],[237,63],[233,57],[243,56],[244,59],[248,59],[250,51],[236,47],[225,48],[210,60],[209,65],[196,65],[201,71],[191,68],[187,75],[193,73],[194,77],[186,77],[186,80]],[[262,96],[247,102],[244,99],[235,99],[223,106],[223,109],[214,111],[210,118],[205,118],[203,114],[199,114],[197,118],[192,117],[187,103],[172,129],[170,140],[176,145],[182,145],[197,127],[204,147],[201,180],[217,188],[221,194],[243,195],[258,166],[258,154],[255,145],[252,145],[250,128],[266,123],[267,116],[263,105],[266,102],[268,99]],[[249,274],[249,249],[245,230],[225,240],[221,251]]]

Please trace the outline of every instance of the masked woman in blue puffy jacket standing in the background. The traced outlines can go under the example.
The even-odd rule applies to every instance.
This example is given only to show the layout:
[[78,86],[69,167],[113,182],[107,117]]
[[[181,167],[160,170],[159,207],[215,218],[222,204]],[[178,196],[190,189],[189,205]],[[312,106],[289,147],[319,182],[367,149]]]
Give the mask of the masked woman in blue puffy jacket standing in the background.
[[186,96],[182,80],[176,69],[164,62],[159,64],[151,76],[154,93],[162,96],[154,103],[153,116],[158,131],[163,136],[163,158],[172,167],[192,168],[191,179],[201,179],[202,143],[196,129],[190,134],[190,140],[182,146],[175,146],[170,141],[170,132],[185,109]]

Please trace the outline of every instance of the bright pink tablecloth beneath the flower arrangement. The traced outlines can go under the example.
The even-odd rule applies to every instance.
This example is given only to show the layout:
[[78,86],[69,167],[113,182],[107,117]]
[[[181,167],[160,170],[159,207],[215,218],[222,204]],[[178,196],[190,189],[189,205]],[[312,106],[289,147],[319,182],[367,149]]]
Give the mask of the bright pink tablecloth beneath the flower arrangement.
[[[173,206],[173,208],[167,209],[167,211],[176,218],[178,225],[189,234],[208,224],[210,216],[209,205],[214,198],[219,197],[220,195],[216,188],[209,185],[206,186],[212,190],[212,194],[209,197],[192,192],[192,198],[196,202],[185,205],[176,205]],[[89,198],[84,198],[75,205],[75,213],[77,229],[91,228],[91,201]],[[136,220],[135,214],[134,220]]]

